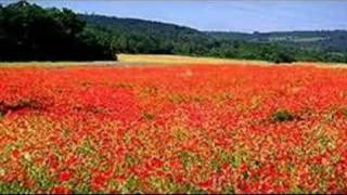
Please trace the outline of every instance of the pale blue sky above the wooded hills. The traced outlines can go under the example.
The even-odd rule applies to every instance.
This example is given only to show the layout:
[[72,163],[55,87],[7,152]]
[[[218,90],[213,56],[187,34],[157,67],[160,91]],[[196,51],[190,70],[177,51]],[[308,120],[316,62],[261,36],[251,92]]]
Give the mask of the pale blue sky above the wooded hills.
[[[347,29],[347,0],[28,0],[79,13],[174,23],[200,30]],[[0,0],[7,4],[15,0]]]

